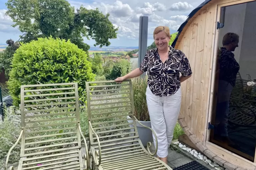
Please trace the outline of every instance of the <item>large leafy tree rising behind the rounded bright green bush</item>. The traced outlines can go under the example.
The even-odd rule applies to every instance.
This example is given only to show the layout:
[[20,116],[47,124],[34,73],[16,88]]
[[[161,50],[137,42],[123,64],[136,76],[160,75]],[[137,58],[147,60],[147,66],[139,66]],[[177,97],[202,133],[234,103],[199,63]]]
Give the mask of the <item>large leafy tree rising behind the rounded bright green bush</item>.
[[109,39],[117,38],[109,14],[103,15],[98,8],[86,9],[83,6],[75,13],[66,0],[8,0],[8,15],[25,34],[22,42],[37,38],[50,37],[70,39],[79,48],[87,51],[90,46],[83,42],[83,37],[95,40],[95,46],[109,46]]

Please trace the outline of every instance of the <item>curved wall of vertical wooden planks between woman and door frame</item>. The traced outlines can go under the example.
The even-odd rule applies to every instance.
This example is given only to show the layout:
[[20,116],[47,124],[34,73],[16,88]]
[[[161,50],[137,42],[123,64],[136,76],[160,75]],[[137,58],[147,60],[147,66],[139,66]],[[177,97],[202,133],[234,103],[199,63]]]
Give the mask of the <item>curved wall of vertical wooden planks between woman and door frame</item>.
[[182,83],[182,106],[178,121],[192,140],[200,142],[203,142],[205,135],[215,32],[215,5],[207,6],[186,25],[187,29],[183,29],[183,36],[179,37],[175,45],[188,57],[193,71],[192,77]]

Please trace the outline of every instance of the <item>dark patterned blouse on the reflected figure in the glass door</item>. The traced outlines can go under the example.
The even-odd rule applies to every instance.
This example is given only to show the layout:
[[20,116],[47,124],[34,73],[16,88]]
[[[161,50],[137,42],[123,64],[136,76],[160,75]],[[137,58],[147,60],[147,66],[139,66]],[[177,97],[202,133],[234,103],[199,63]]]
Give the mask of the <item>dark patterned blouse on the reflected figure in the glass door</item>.
[[219,80],[224,80],[230,83],[233,87],[236,84],[236,76],[240,69],[239,64],[234,58],[234,54],[228,51],[225,47],[219,49],[218,54],[218,67],[219,67]]

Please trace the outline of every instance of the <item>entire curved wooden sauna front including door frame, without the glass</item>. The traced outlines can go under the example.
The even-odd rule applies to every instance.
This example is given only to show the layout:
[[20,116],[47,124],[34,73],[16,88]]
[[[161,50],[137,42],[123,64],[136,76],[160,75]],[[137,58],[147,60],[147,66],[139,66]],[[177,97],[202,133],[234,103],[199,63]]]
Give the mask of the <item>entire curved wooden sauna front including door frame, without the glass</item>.
[[[255,163],[208,142],[206,137],[218,5],[253,0],[212,0],[203,6],[183,28],[175,48],[182,50],[191,65],[192,77],[182,83],[182,106],[178,122],[192,143],[211,160],[232,170],[256,170]],[[214,63],[214,64],[212,64]],[[209,108],[210,107],[210,108]],[[242,168],[241,168],[242,167]]]

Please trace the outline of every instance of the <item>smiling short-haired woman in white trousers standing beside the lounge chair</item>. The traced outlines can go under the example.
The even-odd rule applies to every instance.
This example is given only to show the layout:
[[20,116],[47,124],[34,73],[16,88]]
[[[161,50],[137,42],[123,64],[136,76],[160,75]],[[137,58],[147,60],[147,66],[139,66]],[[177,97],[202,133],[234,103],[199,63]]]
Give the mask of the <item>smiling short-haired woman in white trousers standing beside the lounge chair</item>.
[[[115,81],[122,82],[148,71],[146,96],[151,127],[158,140],[157,157],[167,163],[168,146],[181,107],[181,82],[187,80],[192,71],[184,53],[169,46],[168,27],[156,27],[153,37],[157,48],[147,52],[139,68]],[[155,143],[154,135],[153,139]]]

